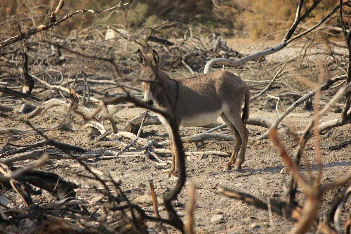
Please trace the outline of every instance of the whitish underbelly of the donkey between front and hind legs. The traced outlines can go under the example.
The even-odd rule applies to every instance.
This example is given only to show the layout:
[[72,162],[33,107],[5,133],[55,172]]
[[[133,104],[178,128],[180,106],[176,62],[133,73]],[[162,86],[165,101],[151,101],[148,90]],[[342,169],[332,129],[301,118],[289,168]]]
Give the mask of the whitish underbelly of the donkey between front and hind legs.
[[216,121],[218,116],[223,111],[220,109],[214,112],[199,113],[198,115],[192,115],[189,117],[184,117],[180,121],[181,126],[204,126]]

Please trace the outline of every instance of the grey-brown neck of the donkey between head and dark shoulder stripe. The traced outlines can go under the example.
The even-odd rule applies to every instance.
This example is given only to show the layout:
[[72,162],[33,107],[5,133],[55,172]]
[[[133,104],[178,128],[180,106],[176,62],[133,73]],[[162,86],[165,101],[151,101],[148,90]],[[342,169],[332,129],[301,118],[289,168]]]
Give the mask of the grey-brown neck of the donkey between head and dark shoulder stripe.
[[[175,103],[176,103],[176,98],[177,98],[177,86],[178,83],[171,79],[166,72],[162,71],[159,69],[159,81],[161,83],[161,85],[158,85],[157,89],[158,92],[156,92],[157,94],[153,97],[155,100],[155,104],[158,106],[158,108],[161,109],[170,109],[169,104],[171,104],[172,108],[174,108]],[[163,90],[164,89],[164,90]],[[170,102],[168,103],[167,101],[167,95],[165,94],[165,92],[167,93]]]

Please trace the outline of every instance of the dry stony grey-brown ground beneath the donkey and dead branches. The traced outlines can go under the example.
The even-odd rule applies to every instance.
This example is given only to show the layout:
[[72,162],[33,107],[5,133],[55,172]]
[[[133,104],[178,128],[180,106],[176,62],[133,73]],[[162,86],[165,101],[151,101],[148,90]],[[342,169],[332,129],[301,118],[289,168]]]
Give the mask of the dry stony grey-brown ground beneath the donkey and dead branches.
[[[39,103],[38,103],[39,104]],[[14,104],[17,108],[20,107],[20,103]],[[134,116],[143,113],[145,110],[141,108],[126,108],[118,110],[114,113],[114,119],[119,127],[123,129],[127,122]],[[112,113],[113,111],[111,111]],[[66,110],[62,107],[49,109],[44,116],[37,116],[31,119],[31,123],[37,128],[50,127],[57,124],[64,116]],[[300,115],[306,115],[306,112],[294,112]],[[271,119],[278,117],[275,112],[261,112],[251,110],[250,114],[262,115]],[[15,128],[15,129],[30,129],[23,122],[19,121],[19,118],[23,117],[16,114],[18,118],[10,119],[4,116],[0,117],[1,129]],[[323,117],[323,121],[338,118],[337,113],[328,113],[327,116]],[[310,118],[302,117],[287,117],[284,119],[284,123],[288,124],[292,130],[300,131],[303,130],[306,125],[310,122]],[[48,131],[46,135],[54,138],[57,141],[65,142],[73,145],[78,145],[87,149],[88,151],[84,154],[96,154],[104,152],[106,149],[119,150],[119,148],[95,148],[88,143],[89,129],[82,129],[81,124],[83,120],[79,117],[76,118],[76,122],[73,125],[73,131]],[[111,128],[110,123],[106,120],[102,120],[101,123],[107,128]],[[256,137],[266,130],[261,127],[247,125],[250,131],[250,137]],[[203,130],[199,128],[185,128],[181,127],[181,136],[193,135]],[[231,134],[228,129],[220,130],[219,132],[224,134]],[[145,126],[141,137],[146,139],[152,139],[155,141],[163,141],[168,138],[166,130],[163,125],[150,125]],[[334,128],[327,132],[324,132],[320,136],[320,144],[322,151],[323,160],[323,176],[322,184],[331,182],[339,176],[342,176],[351,165],[350,151],[351,147],[346,146],[345,148],[329,151],[328,148],[332,145],[339,144],[340,142],[347,141],[350,138],[350,125]],[[37,142],[42,138],[39,136],[29,136],[27,138],[14,138],[11,139],[12,144],[26,145],[29,143]],[[290,154],[293,154],[294,149],[297,146],[297,142],[294,138],[288,135],[281,135],[280,139]],[[1,145],[7,140],[5,138],[0,139]],[[130,139],[122,139],[126,143],[130,143]],[[220,139],[206,139],[201,142],[190,142],[185,144],[186,151],[210,151],[219,150],[223,152],[231,152],[233,150],[234,143],[230,141]],[[166,145],[169,148],[169,145]],[[5,150],[9,150],[9,147],[0,151],[0,154]],[[48,150],[50,152],[50,150]],[[60,151],[55,150],[56,154],[63,154]],[[78,153],[74,152],[74,155]],[[284,200],[284,194],[282,190],[282,177],[286,177],[286,181],[289,182],[291,175],[282,175],[280,171],[285,166],[280,155],[277,154],[277,150],[274,147],[271,139],[264,139],[259,141],[249,141],[246,151],[246,161],[243,164],[242,171],[226,171],[223,172],[224,164],[229,158],[205,155],[205,156],[188,156],[186,158],[186,171],[187,180],[185,188],[181,191],[178,196],[178,200],[173,201],[173,205],[182,219],[187,219],[186,204],[189,202],[190,196],[188,194],[188,187],[190,183],[195,182],[197,184],[196,189],[196,204],[194,213],[194,227],[196,233],[288,233],[289,230],[294,226],[294,223],[289,220],[285,220],[277,214],[270,215],[266,210],[258,209],[250,206],[242,201],[231,199],[217,192],[216,187],[226,187],[233,190],[242,191],[251,195],[260,197],[269,197],[271,199],[282,199]],[[168,157],[170,160],[170,157]],[[31,162],[27,160],[22,164]],[[304,162],[309,162],[311,166],[310,173],[312,175],[317,174],[317,164],[314,156],[314,138],[306,144],[305,159]],[[77,176],[75,173],[85,174],[86,171],[80,168],[69,168],[68,164],[77,164],[73,160],[49,160],[46,165],[41,166],[41,169],[57,173],[59,176],[65,177],[70,181],[77,183],[82,188],[90,186],[96,182],[89,181],[86,178]],[[127,191],[126,195],[130,201],[134,201],[140,195],[150,195],[150,188],[148,181],[153,180],[155,186],[155,192],[159,199],[159,209],[161,210],[161,217],[166,218],[167,213],[163,210],[162,194],[173,188],[176,181],[172,179],[166,179],[166,170],[170,167],[155,166],[154,164],[148,163],[140,158],[121,158],[118,163],[115,160],[104,160],[93,163],[88,163],[88,166],[93,169],[98,169],[104,172],[108,172],[113,178],[120,178],[122,181],[122,190]],[[247,173],[252,173],[250,176],[240,176]],[[302,173],[308,177],[309,171],[305,166],[302,166]],[[146,185],[146,186],[145,186]],[[319,216],[322,218],[326,214],[328,205],[331,202],[333,195],[336,190],[329,191],[324,195],[322,204],[320,206]],[[100,196],[98,193],[80,193],[77,190],[77,195],[83,200],[91,200],[96,196]],[[43,195],[42,195],[43,196]],[[40,199],[38,196],[37,199]],[[297,193],[297,201],[300,205],[303,205],[306,197],[303,191],[300,189]],[[135,200],[135,202],[137,202]],[[153,215],[152,203],[145,202],[140,206],[150,215]],[[350,209],[350,204],[346,205],[345,210]],[[347,214],[343,213],[342,221],[345,221]],[[153,227],[153,223],[148,222],[148,227]],[[176,229],[167,226],[168,233],[179,233]],[[152,233],[152,231],[151,231]]]

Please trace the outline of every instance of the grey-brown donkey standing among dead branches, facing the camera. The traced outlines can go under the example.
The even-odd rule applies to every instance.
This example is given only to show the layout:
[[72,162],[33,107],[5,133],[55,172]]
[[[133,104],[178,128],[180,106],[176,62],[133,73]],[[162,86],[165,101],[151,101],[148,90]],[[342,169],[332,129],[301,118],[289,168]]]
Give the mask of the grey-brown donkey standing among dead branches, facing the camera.
[[[178,126],[204,126],[220,116],[228,125],[236,138],[236,144],[224,171],[231,169],[239,150],[240,156],[234,170],[241,170],[245,161],[245,151],[249,138],[245,124],[249,119],[249,87],[239,77],[229,71],[217,71],[190,78],[170,78],[159,66],[159,56],[155,50],[152,55],[145,57],[140,50],[137,59],[142,66],[140,77],[145,81],[143,86],[143,103],[155,106],[165,112],[174,109]],[[147,82],[149,80],[150,82]],[[157,84],[159,82],[159,85]],[[163,87],[163,88],[162,88]],[[163,90],[164,89],[164,90]],[[167,101],[168,94],[169,101]],[[240,117],[241,105],[245,98],[243,116]],[[167,177],[177,176],[177,158],[173,152],[173,137],[166,118],[158,115],[166,126],[171,140],[172,167],[167,171]],[[179,129],[177,129],[179,131]]]

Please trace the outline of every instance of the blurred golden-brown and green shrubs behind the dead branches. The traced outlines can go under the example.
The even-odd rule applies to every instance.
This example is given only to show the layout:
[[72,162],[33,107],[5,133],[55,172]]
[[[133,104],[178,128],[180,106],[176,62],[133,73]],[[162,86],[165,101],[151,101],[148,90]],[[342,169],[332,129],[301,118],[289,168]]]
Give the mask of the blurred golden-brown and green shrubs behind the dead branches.
[[[317,22],[338,5],[338,0],[325,0],[307,17],[305,26]],[[116,2],[117,3],[117,2]],[[124,3],[124,2],[122,2]],[[285,0],[145,0],[129,1],[129,6],[118,9],[118,13],[97,17],[84,14],[79,19],[65,22],[58,30],[62,35],[72,34],[84,27],[101,27],[103,25],[117,26],[131,30],[135,27],[150,27],[164,20],[176,21],[193,27],[199,32],[215,32],[238,37],[261,38],[270,35],[270,39],[279,38],[289,28],[296,14],[298,1]],[[9,28],[4,33],[7,36],[18,34],[17,24],[25,30],[48,21],[49,14],[57,6],[54,0],[19,1],[2,0],[0,10],[0,25]],[[313,4],[312,0],[305,1],[302,13]],[[111,6],[111,1],[77,0],[66,1],[61,14],[65,15],[79,9],[105,9]],[[349,23],[350,10],[345,7],[344,20]],[[339,25],[339,17],[335,16],[327,22],[329,26]],[[10,26],[10,27],[8,27]],[[301,31],[302,29],[300,29]],[[166,35],[176,37],[182,31],[170,31]],[[339,38],[337,31],[323,32],[326,37]],[[3,37],[4,35],[1,35]],[[278,36],[278,37],[277,37]]]

